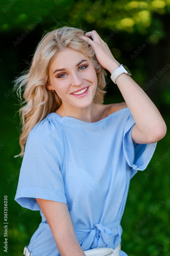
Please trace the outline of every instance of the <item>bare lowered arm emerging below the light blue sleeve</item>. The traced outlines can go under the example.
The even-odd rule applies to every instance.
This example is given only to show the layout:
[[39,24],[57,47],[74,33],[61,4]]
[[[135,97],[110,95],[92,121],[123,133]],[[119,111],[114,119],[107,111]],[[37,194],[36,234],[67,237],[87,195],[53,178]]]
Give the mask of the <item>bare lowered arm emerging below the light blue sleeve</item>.
[[[36,198],[48,225],[53,233],[57,249],[61,256],[68,255],[72,250],[74,256],[85,256],[76,235],[67,204]],[[60,221],[57,220],[60,217]]]

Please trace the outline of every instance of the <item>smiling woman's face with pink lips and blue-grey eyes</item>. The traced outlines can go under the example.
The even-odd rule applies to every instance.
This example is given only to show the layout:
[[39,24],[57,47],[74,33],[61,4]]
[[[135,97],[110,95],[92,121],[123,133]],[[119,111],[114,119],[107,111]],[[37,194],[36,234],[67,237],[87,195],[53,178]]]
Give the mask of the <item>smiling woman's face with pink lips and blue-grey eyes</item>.
[[[62,104],[85,108],[93,101],[97,89],[96,72],[89,57],[80,51],[66,48],[51,59],[49,85],[46,87],[56,91]],[[86,90],[84,93],[73,94],[84,88]]]

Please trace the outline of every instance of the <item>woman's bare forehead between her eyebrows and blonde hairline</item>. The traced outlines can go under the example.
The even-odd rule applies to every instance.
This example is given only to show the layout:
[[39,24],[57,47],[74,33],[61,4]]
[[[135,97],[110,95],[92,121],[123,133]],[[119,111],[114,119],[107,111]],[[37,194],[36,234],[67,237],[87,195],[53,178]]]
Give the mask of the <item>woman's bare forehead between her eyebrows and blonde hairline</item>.
[[[81,51],[66,48],[57,52],[50,60],[50,67],[65,68],[68,65],[76,65],[82,59],[90,60],[89,57],[84,55]],[[62,67],[61,67],[62,66]]]

